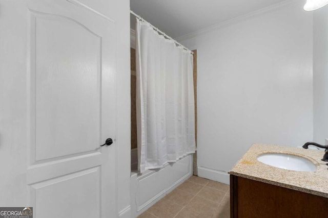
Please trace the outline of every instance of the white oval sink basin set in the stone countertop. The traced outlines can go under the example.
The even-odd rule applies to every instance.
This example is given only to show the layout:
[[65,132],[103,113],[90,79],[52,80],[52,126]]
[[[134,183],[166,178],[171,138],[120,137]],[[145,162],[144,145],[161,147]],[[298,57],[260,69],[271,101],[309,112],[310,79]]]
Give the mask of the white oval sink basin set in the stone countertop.
[[291,154],[267,153],[257,156],[257,160],[282,169],[291,171],[314,172],[317,166],[310,160]]

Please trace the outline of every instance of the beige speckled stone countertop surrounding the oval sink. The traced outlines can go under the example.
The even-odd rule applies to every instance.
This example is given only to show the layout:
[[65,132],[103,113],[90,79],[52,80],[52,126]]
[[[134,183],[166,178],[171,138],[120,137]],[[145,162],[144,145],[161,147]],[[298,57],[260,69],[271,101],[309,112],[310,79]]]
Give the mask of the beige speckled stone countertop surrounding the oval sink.
[[[257,160],[257,156],[264,153],[301,156],[311,160],[317,170],[301,172],[270,166]],[[253,144],[229,174],[328,198],[328,166],[325,165],[327,162],[321,161],[323,155],[324,151],[312,149]]]

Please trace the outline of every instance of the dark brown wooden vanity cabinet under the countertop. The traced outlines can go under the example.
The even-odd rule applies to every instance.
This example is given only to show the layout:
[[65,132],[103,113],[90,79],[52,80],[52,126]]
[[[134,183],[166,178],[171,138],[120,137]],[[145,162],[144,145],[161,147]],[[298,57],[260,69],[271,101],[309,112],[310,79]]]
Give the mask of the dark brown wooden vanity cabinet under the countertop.
[[230,210],[231,218],[320,218],[328,198],[230,175]]

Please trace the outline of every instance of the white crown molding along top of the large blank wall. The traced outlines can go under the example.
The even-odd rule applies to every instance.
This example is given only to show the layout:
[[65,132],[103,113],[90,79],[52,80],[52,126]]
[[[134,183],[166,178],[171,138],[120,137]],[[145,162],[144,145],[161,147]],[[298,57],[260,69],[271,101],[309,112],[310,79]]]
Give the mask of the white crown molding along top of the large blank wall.
[[241,16],[226,20],[226,21],[216,23],[215,25],[203,28],[201,30],[198,30],[198,31],[186,34],[186,35],[176,37],[175,40],[183,41],[183,40],[191,39],[191,38],[194,38],[196,36],[199,36],[199,35],[202,35],[202,34],[205,34],[205,33],[209,33],[209,32],[213,32],[213,31],[216,31],[216,30],[221,29],[223,27],[233,25],[233,24],[241,22],[243,20],[250,19],[250,18],[253,18],[253,17],[257,17],[257,16],[263,15],[265,13],[275,11],[275,10],[280,9],[282,7],[290,7],[290,6],[296,5],[296,4],[301,3],[301,2],[303,3],[304,1],[303,0],[302,1],[301,0],[286,0],[284,2],[275,4],[275,5],[271,5],[269,7],[265,7],[265,8],[259,9],[257,11],[253,11],[253,12],[248,13],[248,14],[244,14],[244,15],[241,15]]

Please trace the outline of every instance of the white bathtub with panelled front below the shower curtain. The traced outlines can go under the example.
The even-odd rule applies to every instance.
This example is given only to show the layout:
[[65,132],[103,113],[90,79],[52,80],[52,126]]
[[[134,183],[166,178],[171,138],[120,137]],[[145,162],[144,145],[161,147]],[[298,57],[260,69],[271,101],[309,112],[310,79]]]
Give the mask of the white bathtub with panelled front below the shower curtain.
[[131,217],[137,217],[193,174],[193,155],[142,175],[137,169],[137,150],[131,150]]

